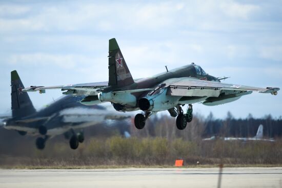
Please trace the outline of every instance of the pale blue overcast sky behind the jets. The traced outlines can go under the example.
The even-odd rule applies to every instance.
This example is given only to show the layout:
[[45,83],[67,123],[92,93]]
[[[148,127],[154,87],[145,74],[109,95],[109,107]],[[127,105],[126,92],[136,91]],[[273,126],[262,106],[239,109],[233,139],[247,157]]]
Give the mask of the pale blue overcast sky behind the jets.
[[[108,80],[115,37],[133,78],[195,62],[226,83],[282,88],[281,1],[1,1],[0,114],[10,113],[10,71],[24,85]],[[62,96],[30,93],[38,109]],[[282,93],[253,93],[194,112],[279,118]]]

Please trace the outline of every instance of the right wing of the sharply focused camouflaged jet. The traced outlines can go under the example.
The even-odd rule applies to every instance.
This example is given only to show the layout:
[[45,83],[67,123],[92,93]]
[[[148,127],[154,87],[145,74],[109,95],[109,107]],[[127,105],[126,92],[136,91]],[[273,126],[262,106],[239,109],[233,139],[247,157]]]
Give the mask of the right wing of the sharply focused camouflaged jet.
[[277,91],[279,90],[279,88],[276,87],[260,88],[225,84],[190,77],[168,79],[164,83],[166,87],[168,87],[167,95],[186,97],[218,97],[223,92],[232,94],[247,92],[249,94],[252,91],[277,95]]

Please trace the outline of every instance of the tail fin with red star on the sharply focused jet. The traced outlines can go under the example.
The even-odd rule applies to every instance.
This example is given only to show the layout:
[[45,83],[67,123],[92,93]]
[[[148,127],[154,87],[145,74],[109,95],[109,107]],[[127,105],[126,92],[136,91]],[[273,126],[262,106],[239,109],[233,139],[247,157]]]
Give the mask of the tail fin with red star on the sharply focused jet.
[[134,83],[115,39],[109,40],[109,86],[123,87]]

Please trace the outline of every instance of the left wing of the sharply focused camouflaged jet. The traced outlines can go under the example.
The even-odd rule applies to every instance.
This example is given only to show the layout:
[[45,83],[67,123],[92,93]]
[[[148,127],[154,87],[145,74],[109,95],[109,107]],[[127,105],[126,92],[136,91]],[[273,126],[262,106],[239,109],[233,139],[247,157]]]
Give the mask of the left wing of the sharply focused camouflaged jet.
[[86,84],[74,84],[74,85],[59,85],[59,86],[30,86],[23,89],[23,91],[39,91],[40,93],[45,93],[46,89],[61,89],[63,94],[70,95],[97,95],[97,90],[107,87],[108,82],[95,82]]

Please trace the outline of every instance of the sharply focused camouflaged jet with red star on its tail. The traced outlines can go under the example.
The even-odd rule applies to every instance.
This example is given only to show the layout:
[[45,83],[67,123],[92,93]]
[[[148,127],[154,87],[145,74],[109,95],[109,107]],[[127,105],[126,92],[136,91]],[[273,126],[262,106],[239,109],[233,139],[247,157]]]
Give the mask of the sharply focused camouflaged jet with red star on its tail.
[[[193,118],[192,104],[218,105],[235,101],[253,91],[277,95],[276,87],[250,87],[221,83],[207,74],[200,66],[192,63],[180,68],[159,73],[149,78],[133,80],[125,58],[115,39],[109,40],[109,81],[61,86],[31,86],[25,91],[62,89],[63,94],[86,95],[80,103],[94,105],[111,102],[117,111],[143,110],[134,119],[135,127],[142,129],[146,119],[154,112],[168,110],[176,118],[178,129],[184,129]],[[188,104],[184,113],[182,106]]]

